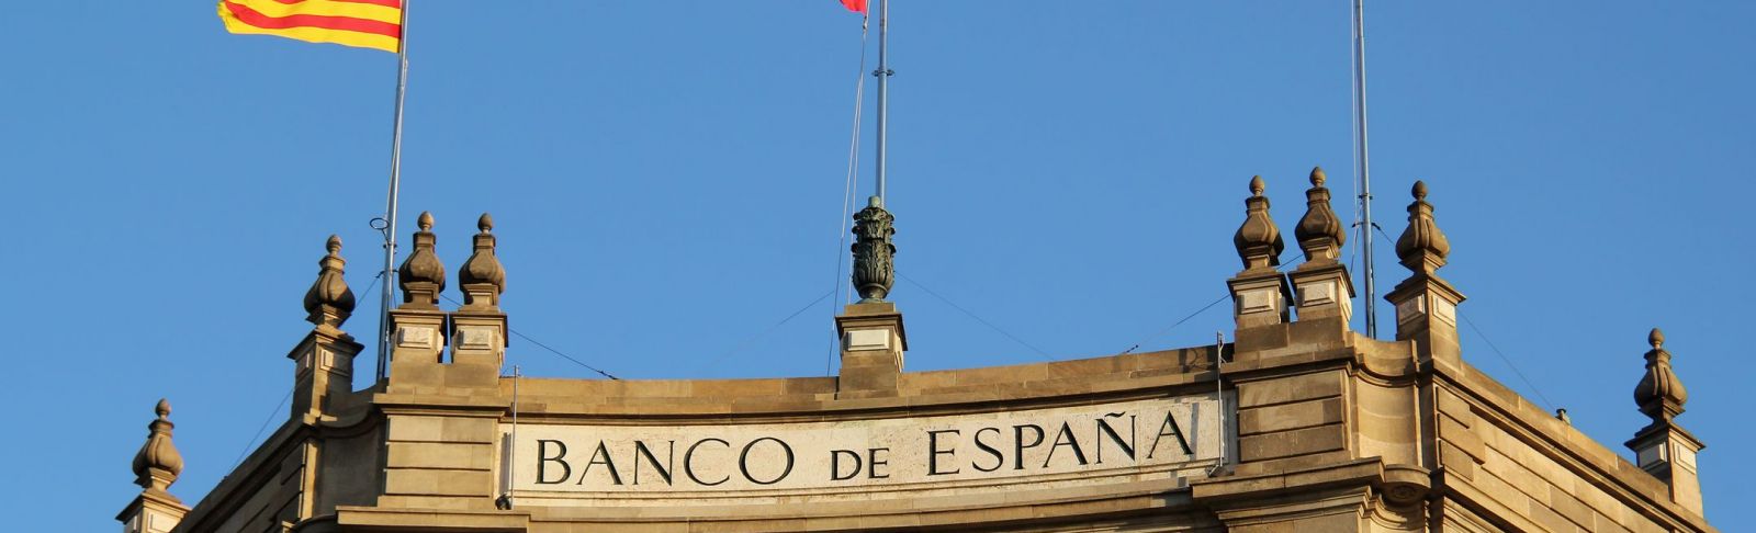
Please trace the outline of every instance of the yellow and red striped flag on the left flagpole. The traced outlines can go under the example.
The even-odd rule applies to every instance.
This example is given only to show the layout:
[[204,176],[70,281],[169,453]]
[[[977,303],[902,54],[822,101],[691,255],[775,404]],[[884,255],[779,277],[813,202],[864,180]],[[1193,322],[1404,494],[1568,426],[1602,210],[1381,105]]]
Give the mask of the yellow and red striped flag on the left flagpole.
[[334,42],[397,53],[404,0],[220,0],[232,33]]

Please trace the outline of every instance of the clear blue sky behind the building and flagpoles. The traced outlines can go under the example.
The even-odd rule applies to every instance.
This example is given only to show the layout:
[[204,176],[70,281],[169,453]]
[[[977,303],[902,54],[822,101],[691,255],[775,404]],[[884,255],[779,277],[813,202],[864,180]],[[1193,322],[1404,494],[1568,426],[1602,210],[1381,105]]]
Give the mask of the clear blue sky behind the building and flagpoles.
[[[1726,531],[1756,526],[1752,21],[1747,2],[1368,7],[1375,212],[1398,235],[1429,182],[1442,274],[1486,333],[1465,358],[1626,456],[1665,328]],[[1250,175],[1287,233],[1312,165],[1354,193],[1345,0],[897,0],[892,23],[911,370],[1208,344],[1224,305],[1166,326],[1226,293]],[[455,270],[493,212],[513,328],[627,379],[825,372],[857,16],[432,0],[409,25],[402,224],[432,210]],[[0,451],[33,480],[0,500],[32,501],[30,529],[112,528],[169,396],[193,505],[281,421],[330,233],[371,344],[395,58],[227,35],[209,2],[19,2],[0,60]],[[1382,288],[1407,274],[1389,249]],[[507,358],[594,377],[522,338]]]

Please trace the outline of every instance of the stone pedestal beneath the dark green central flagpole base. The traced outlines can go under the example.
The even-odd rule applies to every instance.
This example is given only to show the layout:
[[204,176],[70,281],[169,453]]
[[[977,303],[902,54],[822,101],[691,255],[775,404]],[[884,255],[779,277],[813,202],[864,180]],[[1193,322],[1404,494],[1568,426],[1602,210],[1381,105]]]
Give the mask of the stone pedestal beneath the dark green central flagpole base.
[[841,333],[841,380],[836,398],[885,398],[897,394],[908,335],[896,303],[853,303],[836,316]]

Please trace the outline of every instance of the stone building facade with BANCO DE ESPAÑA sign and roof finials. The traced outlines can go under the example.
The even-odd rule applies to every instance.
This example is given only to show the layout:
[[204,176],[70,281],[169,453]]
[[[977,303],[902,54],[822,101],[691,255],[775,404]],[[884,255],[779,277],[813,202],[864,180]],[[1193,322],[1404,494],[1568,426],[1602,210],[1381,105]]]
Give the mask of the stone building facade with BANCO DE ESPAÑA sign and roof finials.
[[[1457,342],[1450,244],[1415,184],[1385,300],[1394,340],[1349,330],[1347,231],[1312,174],[1280,265],[1261,179],[1234,235],[1233,342],[1038,365],[904,372],[890,214],[859,214],[838,377],[507,377],[506,272],[483,216],[446,266],[420,217],[390,312],[388,377],[353,391],[362,345],[341,242],[288,352],[288,419],[200,503],[169,403],[135,458],[144,531],[1714,531],[1702,442],[1654,330],[1616,451],[1494,382]],[[1630,358],[1631,359],[1631,358]],[[1631,365],[1630,365],[1631,366]],[[1630,368],[1630,373],[1633,368]]]

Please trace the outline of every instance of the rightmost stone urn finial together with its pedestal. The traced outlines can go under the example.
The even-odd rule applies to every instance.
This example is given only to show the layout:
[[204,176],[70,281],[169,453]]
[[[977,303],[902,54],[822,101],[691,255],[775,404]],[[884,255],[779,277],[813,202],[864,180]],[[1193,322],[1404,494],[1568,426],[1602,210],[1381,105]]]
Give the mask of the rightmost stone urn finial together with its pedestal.
[[1702,514],[1702,473],[1696,456],[1707,445],[1675,421],[1682,414],[1682,405],[1689,402],[1689,391],[1670,368],[1665,331],[1652,328],[1647,344],[1652,349],[1645,352],[1647,366],[1640,384],[1635,386],[1635,403],[1642,414],[1652,417],[1652,423],[1635,431],[1635,438],[1626,445],[1635,451],[1635,465],[1640,470],[1670,487],[1672,501]]

